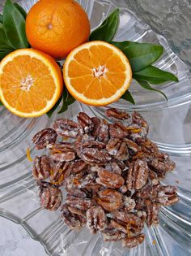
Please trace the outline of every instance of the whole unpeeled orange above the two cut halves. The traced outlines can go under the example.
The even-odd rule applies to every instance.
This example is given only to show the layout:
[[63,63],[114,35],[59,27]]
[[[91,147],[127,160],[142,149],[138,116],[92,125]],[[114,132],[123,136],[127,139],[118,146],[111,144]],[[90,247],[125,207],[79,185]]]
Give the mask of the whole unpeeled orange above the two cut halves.
[[26,33],[31,46],[56,59],[87,41],[90,22],[73,0],[40,0],[28,12]]

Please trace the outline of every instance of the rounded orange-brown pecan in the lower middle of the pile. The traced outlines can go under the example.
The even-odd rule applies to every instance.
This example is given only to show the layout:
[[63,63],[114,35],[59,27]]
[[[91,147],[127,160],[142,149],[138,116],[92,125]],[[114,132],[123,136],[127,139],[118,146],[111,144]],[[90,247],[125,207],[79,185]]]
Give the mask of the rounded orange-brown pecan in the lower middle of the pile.
[[104,210],[113,211],[121,208],[122,195],[113,189],[102,190],[97,199],[98,205],[102,206]]

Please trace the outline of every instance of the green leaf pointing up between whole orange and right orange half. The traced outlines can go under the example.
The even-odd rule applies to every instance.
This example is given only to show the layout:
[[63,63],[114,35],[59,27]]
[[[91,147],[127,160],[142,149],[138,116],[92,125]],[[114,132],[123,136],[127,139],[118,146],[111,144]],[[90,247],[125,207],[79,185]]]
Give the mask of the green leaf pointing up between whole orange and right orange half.
[[117,27],[119,24],[119,9],[112,12],[106,20],[96,28],[91,35],[89,40],[101,40],[101,41],[112,41],[112,38],[117,32]]

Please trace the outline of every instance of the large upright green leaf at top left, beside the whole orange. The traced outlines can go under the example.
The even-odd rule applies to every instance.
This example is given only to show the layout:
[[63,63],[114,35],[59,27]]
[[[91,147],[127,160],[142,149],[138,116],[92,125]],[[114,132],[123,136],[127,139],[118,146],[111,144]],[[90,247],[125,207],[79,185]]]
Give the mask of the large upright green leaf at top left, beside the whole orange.
[[25,32],[25,19],[18,7],[6,0],[3,9],[3,26],[6,38],[15,49],[28,48],[28,39]]

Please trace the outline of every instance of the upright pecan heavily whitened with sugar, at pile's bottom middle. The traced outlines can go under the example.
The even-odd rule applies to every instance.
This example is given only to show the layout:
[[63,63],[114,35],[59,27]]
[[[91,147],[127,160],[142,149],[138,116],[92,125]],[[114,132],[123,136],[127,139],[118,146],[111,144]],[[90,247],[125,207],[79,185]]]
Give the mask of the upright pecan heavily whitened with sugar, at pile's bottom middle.
[[87,210],[87,228],[92,234],[104,230],[107,226],[107,216],[101,206],[92,206]]

